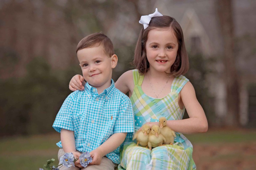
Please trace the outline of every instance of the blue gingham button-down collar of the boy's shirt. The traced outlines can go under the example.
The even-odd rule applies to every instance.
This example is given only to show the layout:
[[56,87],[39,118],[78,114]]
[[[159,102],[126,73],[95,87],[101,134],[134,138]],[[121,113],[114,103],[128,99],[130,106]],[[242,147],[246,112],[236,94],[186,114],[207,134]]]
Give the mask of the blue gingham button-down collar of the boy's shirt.
[[[93,96],[93,93],[96,92],[96,94],[98,95],[97,93],[97,88],[94,88],[92,87],[89,83],[85,83],[85,89],[84,89],[85,92],[87,92],[87,96],[89,98],[91,98],[91,96]],[[111,85],[106,88],[105,90],[103,90],[103,92],[101,94],[105,94],[105,100],[107,101],[109,99],[109,97],[113,94],[113,92],[115,91],[115,83],[114,83],[114,80],[111,79]]]

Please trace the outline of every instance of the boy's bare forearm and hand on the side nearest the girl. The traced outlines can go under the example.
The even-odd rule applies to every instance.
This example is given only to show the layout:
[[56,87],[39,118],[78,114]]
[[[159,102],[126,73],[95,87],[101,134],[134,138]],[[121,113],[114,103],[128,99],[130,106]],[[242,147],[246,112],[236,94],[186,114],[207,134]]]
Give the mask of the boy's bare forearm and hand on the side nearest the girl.
[[114,133],[109,137],[104,143],[101,144],[97,149],[90,152],[93,162],[91,165],[99,165],[103,156],[114,151],[118,146],[120,146],[123,141],[125,141],[127,133]]

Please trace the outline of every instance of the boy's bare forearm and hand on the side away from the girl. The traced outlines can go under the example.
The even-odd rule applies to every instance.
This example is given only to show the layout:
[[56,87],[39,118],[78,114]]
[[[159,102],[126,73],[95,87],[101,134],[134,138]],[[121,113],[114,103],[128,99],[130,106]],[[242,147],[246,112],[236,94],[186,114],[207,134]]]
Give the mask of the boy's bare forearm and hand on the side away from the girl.
[[81,155],[79,152],[75,149],[75,137],[74,137],[74,131],[67,130],[67,129],[61,129],[61,145],[64,150],[64,152],[72,152],[74,157],[78,159],[75,162],[75,166],[82,168],[79,160],[79,156]]

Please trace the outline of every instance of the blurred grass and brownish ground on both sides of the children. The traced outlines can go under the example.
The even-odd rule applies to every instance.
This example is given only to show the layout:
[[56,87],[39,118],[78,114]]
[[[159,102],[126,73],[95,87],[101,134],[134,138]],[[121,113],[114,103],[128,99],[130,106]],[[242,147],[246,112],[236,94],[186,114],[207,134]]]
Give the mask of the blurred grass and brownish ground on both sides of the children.
[[[256,130],[209,130],[185,135],[193,144],[197,169],[256,169]],[[0,140],[0,169],[32,170],[54,158],[58,164],[59,133]]]

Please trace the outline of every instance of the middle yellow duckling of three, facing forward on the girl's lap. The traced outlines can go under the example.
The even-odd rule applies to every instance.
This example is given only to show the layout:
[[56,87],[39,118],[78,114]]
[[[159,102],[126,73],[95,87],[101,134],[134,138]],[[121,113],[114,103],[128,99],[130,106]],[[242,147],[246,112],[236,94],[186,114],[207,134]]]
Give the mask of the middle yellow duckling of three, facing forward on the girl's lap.
[[165,141],[165,137],[160,133],[158,125],[153,125],[151,127],[151,131],[149,133],[149,142],[148,146],[151,150],[152,147],[157,147],[163,144],[163,141]]

